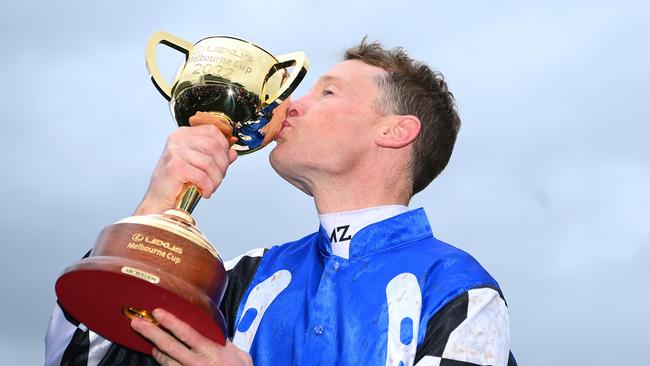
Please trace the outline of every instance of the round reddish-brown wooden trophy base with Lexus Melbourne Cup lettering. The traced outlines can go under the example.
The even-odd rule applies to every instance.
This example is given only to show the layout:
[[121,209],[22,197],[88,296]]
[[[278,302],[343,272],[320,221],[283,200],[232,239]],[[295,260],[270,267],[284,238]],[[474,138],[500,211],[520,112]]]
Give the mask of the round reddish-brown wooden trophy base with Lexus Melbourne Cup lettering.
[[138,317],[156,323],[151,312],[157,308],[213,342],[223,345],[226,339],[218,309],[228,281],[221,259],[204,246],[207,241],[196,244],[193,225],[188,235],[187,222],[168,213],[106,227],[91,255],[56,282],[59,303],[75,319],[111,342],[149,355],[153,344],[130,322]]

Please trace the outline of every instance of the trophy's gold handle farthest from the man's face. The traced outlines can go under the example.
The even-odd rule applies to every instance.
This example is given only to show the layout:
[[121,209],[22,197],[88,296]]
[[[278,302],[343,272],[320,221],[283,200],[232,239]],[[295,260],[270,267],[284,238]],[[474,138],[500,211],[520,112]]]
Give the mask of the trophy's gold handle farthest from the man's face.
[[164,44],[165,46],[171,47],[178,52],[185,54],[185,60],[189,57],[190,50],[194,46],[191,42],[188,42],[182,38],[176,37],[175,35],[167,32],[156,32],[149,38],[147,42],[147,70],[149,75],[151,75],[151,81],[153,85],[158,89],[160,94],[165,97],[168,101],[172,99],[172,87],[167,83],[165,78],[160,73],[158,69],[158,62],[156,61],[156,50],[159,44]]

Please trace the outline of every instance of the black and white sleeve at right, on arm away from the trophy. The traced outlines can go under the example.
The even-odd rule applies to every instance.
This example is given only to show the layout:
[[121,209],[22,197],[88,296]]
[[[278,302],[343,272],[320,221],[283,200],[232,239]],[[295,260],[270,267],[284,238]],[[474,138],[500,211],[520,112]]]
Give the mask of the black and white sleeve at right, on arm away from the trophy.
[[517,366],[510,352],[508,307],[500,291],[474,288],[427,323],[416,366]]

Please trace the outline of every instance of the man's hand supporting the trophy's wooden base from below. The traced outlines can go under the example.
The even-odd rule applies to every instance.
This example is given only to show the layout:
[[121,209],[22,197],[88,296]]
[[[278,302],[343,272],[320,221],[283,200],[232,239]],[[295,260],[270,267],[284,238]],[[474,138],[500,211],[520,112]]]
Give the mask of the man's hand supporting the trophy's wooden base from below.
[[153,357],[161,365],[253,365],[251,357],[232,343],[218,345],[162,309],[153,315],[169,333],[138,318],[131,321],[131,327],[156,345]]

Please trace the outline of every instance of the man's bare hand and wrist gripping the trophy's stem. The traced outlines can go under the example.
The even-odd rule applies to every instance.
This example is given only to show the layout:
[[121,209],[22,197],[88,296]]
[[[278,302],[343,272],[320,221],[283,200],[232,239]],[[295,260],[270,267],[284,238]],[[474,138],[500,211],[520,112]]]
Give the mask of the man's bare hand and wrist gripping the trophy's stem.
[[185,183],[195,184],[201,195],[209,198],[237,158],[237,152],[230,149],[237,138],[224,119],[199,112],[190,117],[190,124],[192,127],[180,127],[169,135],[136,215],[174,208]]

